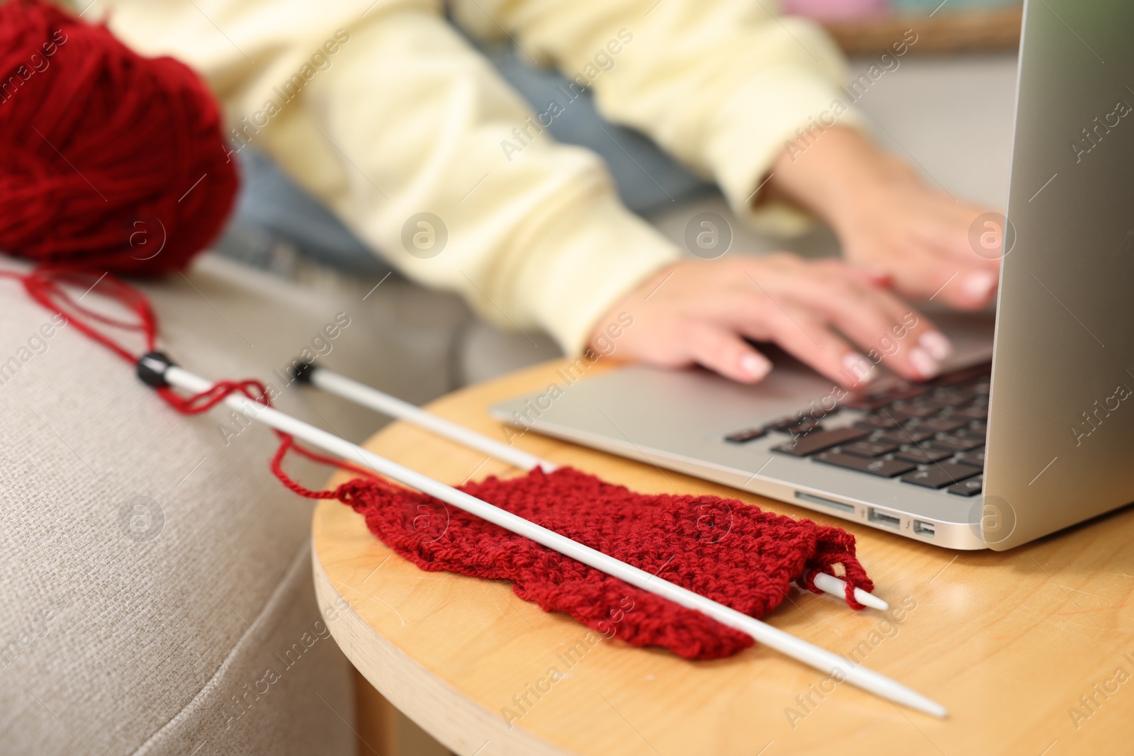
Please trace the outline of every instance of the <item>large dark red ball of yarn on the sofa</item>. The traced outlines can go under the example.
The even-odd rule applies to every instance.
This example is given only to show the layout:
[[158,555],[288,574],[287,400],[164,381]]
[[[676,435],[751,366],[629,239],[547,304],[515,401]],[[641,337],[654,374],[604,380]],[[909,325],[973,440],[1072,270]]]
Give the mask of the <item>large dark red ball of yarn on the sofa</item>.
[[0,250],[112,273],[184,269],[232,207],[201,78],[41,0],[0,5]]

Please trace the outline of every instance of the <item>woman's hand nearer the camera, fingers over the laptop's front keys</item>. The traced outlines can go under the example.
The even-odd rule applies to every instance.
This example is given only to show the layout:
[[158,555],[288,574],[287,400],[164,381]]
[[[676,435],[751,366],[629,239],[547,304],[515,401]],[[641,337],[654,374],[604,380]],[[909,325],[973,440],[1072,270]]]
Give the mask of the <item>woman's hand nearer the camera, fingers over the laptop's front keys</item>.
[[932,377],[951,350],[923,315],[869,275],[837,260],[787,253],[670,265],[618,301],[590,346],[665,367],[701,364],[755,383],[771,363],[745,339],[773,341],[847,388],[869,383],[880,360],[907,379]]

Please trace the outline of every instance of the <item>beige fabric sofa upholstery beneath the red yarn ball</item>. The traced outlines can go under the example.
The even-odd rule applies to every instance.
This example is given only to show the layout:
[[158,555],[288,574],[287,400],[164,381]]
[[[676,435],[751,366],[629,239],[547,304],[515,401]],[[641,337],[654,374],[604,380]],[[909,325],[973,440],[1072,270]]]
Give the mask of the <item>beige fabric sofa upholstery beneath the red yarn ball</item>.
[[[363,439],[386,418],[272,369],[346,313],[324,364],[423,401],[450,389],[467,318],[403,281],[363,300],[367,283],[301,288],[206,257],[144,288],[181,365],[268,379],[282,408]],[[49,314],[14,282],[0,301],[0,750],[353,754],[311,504],[269,473],[274,438],[227,410],[174,413],[73,326],[43,338]]]

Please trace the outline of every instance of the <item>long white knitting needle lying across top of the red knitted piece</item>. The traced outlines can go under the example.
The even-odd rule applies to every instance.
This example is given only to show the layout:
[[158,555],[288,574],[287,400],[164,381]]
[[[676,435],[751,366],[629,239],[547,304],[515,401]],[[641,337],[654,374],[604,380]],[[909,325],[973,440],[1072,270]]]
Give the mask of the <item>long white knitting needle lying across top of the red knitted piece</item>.
[[[163,363],[155,357],[146,356],[142,358],[142,362],[149,369],[161,375],[170,385],[184,391],[201,393],[208,391],[213,385],[211,381],[194,375],[181,367]],[[463,491],[434,481],[428,475],[422,475],[408,467],[379,457],[374,452],[353,444],[346,439],[304,423],[278,409],[265,407],[239,394],[228,396],[225,399],[225,404],[251,419],[260,421],[278,431],[303,439],[307,443],[314,444],[344,459],[361,460],[374,472],[398,481],[404,485],[417,489],[471,515],[499,525],[506,530],[526,536],[565,557],[583,562],[643,591],[668,598],[686,609],[699,611],[721,625],[741,630],[769,648],[773,648],[809,664],[837,680],[845,680],[853,686],[873,693],[892,703],[904,704],[933,716],[945,717],[947,715],[943,706],[896,680],[891,680],[864,666],[852,664],[846,659],[807,643],[802,638],[796,638],[784,630],[779,630],[747,614],[729,609],[711,598],[706,598],[663,578],[650,575],[645,570],[627,564],[609,554],[572,541],[518,515],[493,507]]]

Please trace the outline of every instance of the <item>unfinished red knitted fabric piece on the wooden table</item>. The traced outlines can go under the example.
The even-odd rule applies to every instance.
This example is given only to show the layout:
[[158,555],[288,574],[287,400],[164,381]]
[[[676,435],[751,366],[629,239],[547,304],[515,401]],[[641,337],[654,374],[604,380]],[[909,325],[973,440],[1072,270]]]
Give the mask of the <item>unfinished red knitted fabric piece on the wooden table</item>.
[[[273,468],[288,482],[278,467],[285,452],[281,448]],[[460,490],[755,618],[779,605],[792,580],[814,591],[815,572],[833,575],[836,564],[845,570],[853,606],[861,609],[852,598],[854,587],[873,591],[846,530],[736,500],[640,494],[570,468],[490,477]],[[314,495],[353,507],[375,536],[423,570],[511,580],[521,598],[604,635],[615,628],[635,646],[719,659],[753,643],[700,612],[425,494],[357,478]],[[627,596],[633,604],[624,603]],[[619,611],[627,605],[633,609]]]

